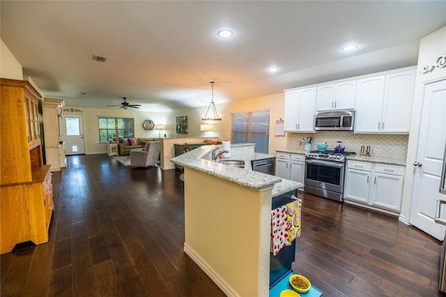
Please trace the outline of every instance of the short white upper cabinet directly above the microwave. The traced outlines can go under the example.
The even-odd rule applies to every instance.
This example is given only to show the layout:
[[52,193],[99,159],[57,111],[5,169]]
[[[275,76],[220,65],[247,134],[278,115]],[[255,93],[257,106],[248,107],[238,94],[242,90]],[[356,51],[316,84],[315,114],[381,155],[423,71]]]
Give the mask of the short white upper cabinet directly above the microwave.
[[355,80],[318,86],[318,111],[354,109],[355,88]]

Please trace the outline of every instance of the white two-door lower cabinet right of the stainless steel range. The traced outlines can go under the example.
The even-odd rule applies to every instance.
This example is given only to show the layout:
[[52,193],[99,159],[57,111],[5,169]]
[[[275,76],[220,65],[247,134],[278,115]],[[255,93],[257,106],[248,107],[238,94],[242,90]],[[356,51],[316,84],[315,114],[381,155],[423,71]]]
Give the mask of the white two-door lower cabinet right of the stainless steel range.
[[404,166],[347,161],[344,198],[378,210],[401,211]]

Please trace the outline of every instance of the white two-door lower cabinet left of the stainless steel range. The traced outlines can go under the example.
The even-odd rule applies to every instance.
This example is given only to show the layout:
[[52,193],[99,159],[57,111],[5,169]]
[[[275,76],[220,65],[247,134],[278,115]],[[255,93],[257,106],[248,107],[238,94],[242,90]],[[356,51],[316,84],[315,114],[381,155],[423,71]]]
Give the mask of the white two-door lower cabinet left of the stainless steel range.
[[305,179],[305,155],[277,152],[275,168],[277,177],[303,184]]

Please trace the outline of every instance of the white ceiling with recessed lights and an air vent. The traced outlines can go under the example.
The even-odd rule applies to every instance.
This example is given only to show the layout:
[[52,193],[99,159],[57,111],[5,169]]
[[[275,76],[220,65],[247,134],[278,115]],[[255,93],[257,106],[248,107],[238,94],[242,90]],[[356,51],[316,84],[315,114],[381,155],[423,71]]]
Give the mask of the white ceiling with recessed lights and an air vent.
[[[1,40],[67,106],[207,106],[417,63],[446,1],[0,1]],[[233,37],[217,37],[231,29]],[[341,51],[347,44],[355,51]],[[107,58],[105,63],[93,55]],[[279,67],[275,73],[267,68]],[[85,94],[81,94],[85,93]]]

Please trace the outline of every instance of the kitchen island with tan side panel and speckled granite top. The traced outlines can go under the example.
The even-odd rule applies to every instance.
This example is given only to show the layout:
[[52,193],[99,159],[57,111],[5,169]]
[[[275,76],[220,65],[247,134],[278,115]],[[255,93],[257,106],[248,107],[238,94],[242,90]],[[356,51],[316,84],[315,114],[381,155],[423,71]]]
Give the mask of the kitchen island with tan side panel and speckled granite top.
[[253,143],[231,145],[229,159],[245,168],[211,161],[220,147],[171,159],[184,167],[184,250],[226,295],[268,296],[272,198],[303,184],[252,171],[252,160],[270,157]]

